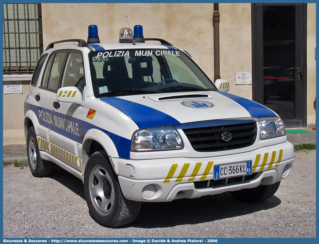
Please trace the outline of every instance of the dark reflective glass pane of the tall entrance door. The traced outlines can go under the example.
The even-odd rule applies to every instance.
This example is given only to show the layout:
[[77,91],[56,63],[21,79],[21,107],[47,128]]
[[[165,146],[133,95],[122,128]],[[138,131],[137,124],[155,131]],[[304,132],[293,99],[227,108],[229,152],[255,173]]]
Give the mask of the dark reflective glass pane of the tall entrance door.
[[263,7],[263,100],[282,119],[295,118],[295,7]]

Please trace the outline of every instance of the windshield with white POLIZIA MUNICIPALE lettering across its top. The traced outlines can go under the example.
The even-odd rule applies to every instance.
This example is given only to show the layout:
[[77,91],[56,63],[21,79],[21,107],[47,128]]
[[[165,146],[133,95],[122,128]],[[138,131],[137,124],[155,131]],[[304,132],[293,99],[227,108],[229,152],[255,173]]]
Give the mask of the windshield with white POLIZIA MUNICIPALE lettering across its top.
[[94,95],[217,90],[180,50],[109,50],[89,54]]

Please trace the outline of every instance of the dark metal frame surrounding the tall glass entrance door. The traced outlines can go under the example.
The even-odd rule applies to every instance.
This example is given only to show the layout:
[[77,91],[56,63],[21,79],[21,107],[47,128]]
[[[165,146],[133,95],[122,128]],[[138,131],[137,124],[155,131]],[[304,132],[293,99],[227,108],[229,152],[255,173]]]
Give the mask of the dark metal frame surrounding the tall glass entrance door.
[[[263,6],[297,6],[303,5],[302,16],[296,14],[296,24],[302,23],[302,32],[296,32],[296,36],[302,34],[302,46],[296,45],[296,57],[302,60],[303,69],[303,83],[302,83],[302,104],[295,103],[296,111],[301,114],[302,122],[298,125],[294,121],[285,121],[285,126],[288,128],[293,127],[306,127],[307,126],[307,4],[288,3],[288,4],[251,4],[251,44],[252,44],[252,98],[253,101],[263,104],[263,86],[258,84],[257,80],[263,77],[263,29],[258,28],[263,26],[263,19],[257,18],[257,8]],[[301,27],[301,24],[300,24]],[[297,29],[297,28],[296,28]],[[261,68],[260,68],[261,67]],[[296,67],[296,65],[295,65]],[[298,73],[297,67],[295,74]],[[298,76],[295,75],[296,81]]]

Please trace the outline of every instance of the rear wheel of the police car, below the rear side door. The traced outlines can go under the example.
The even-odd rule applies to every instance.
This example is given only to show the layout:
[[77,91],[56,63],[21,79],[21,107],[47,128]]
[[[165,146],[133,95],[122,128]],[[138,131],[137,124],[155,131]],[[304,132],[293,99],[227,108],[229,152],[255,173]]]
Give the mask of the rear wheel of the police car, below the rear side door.
[[44,177],[54,172],[55,164],[41,158],[37,136],[33,127],[30,127],[26,139],[26,150],[29,167],[35,177]]

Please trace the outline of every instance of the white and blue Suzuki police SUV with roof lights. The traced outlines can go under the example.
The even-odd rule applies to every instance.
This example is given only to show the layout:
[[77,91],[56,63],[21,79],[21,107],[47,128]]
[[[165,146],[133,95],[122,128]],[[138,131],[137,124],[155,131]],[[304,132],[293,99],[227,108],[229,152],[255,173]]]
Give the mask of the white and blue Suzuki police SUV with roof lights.
[[[78,44],[55,47],[63,42]],[[31,172],[47,176],[57,164],[82,179],[91,217],[107,227],[134,221],[141,202],[228,191],[263,201],[288,176],[293,146],[278,114],[228,90],[142,26],[121,29],[116,43],[100,43],[89,26],[87,42],[50,43],[33,73]]]

